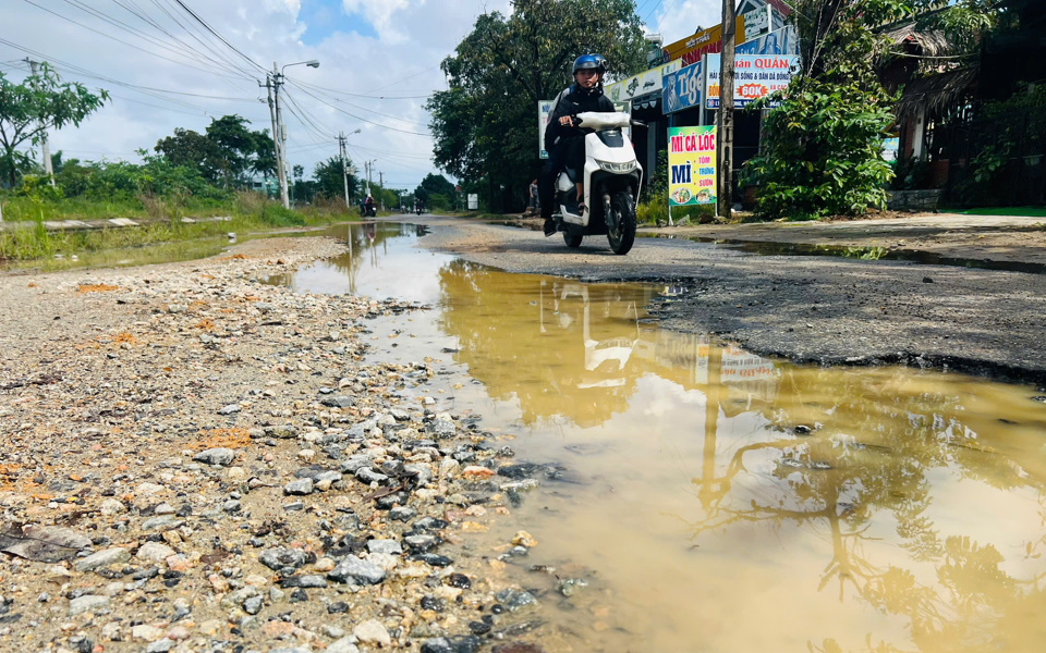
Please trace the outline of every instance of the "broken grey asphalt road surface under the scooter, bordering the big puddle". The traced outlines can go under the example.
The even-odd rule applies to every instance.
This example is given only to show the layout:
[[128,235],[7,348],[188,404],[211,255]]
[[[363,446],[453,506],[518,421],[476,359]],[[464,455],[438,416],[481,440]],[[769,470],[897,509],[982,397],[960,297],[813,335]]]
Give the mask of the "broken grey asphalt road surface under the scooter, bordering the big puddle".
[[[414,221],[414,220],[412,220]],[[711,333],[796,362],[899,362],[1046,383],[1046,275],[835,257],[744,254],[637,238],[615,256],[601,237],[429,219],[426,247],[510,272],[670,284],[662,325]]]

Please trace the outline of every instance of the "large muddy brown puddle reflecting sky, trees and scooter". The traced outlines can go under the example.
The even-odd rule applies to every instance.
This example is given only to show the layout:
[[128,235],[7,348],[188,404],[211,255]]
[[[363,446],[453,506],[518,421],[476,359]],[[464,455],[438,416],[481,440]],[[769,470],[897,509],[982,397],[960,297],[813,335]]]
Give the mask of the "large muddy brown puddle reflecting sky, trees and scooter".
[[673,288],[507,274],[418,233],[354,226],[351,254],[272,282],[434,306],[367,322],[372,356],[441,358],[474,380],[443,389],[453,410],[545,466],[510,517],[463,537],[494,559],[525,529],[538,545],[500,572],[586,583],[540,595],[524,639],[1046,650],[1046,393],[761,358],[659,329],[646,307]]

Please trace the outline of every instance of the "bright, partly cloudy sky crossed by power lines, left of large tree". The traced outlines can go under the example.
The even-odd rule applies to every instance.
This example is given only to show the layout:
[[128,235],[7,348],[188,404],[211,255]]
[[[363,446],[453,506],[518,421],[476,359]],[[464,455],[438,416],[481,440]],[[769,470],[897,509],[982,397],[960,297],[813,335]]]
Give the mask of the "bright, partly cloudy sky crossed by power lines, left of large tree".
[[[321,62],[319,69],[289,67],[288,78],[326,89],[398,98],[382,100],[311,89],[325,101],[370,123],[408,132],[428,131],[429,116],[424,110],[424,96],[446,87],[439,63],[472,29],[476,16],[484,11],[508,9],[508,0],[355,1],[360,14],[373,21],[377,36],[336,33],[314,46],[302,40],[308,26],[302,22],[300,0],[222,0],[193,2],[190,7],[265,70],[271,70],[273,61],[282,65],[318,59]],[[255,130],[269,127],[268,108],[258,101],[265,96],[257,84],[257,79],[265,76],[263,70],[208,38],[203,28],[195,28],[194,36],[190,36],[154,5],[138,5],[183,42],[173,41],[123,12],[115,3],[98,9],[135,25],[156,41],[144,40],[71,5],[57,13],[82,25],[19,0],[0,0],[4,24],[19,25],[17,30],[4,30],[0,37],[37,50],[40,56],[34,56],[36,59],[60,60],[137,87],[207,96],[146,95],[141,89],[123,88],[56,63],[64,78],[83,82],[92,88],[104,87],[112,94],[113,100],[78,128],[66,127],[52,134],[52,151],[61,149],[66,158],[135,160],[132,152],[138,148],[151,150],[158,139],[170,135],[175,127],[203,131],[211,118],[227,113],[247,118]],[[183,17],[188,24],[187,16]],[[143,52],[86,27],[175,61]],[[202,45],[197,38],[208,45]],[[409,45],[393,45],[397,39]],[[26,54],[0,44],[0,71],[12,79],[21,78],[25,71],[17,60]],[[362,132],[349,140],[353,158],[357,163],[364,159],[377,159],[376,170],[385,172],[387,181],[413,188],[428,172],[438,172],[428,160],[431,155],[429,138],[357,120],[309,97],[294,85],[287,89],[308,114],[308,124],[303,124],[288,106],[285,118],[292,164],[302,164],[311,172],[317,161],[337,155],[336,136],[339,132],[348,134],[360,128]]]

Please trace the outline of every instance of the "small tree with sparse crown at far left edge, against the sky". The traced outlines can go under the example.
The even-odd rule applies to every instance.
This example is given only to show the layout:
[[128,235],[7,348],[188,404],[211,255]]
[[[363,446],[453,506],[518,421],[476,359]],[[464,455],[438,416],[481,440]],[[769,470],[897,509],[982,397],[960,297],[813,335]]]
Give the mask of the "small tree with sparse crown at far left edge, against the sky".
[[45,130],[65,125],[80,126],[85,118],[109,99],[106,90],[90,93],[76,82],[62,83],[45,62],[39,72],[14,84],[0,73],[0,147],[3,148],[4,172],[14,186],[16,172],[26,162],[15,148],[24,143],[37,145]]

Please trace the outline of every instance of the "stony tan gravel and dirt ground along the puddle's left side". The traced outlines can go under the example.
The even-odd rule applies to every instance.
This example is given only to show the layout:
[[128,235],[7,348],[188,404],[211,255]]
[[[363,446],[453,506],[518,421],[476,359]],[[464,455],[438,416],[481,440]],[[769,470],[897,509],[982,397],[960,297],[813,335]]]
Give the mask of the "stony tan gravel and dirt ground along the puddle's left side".
[[462,546],[511,449],[434,364],[364,362],[414,308],[256,281],[341,251],[0,278],[0,651],[538,650]]

